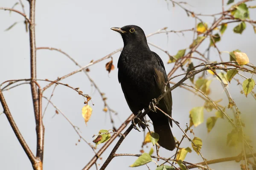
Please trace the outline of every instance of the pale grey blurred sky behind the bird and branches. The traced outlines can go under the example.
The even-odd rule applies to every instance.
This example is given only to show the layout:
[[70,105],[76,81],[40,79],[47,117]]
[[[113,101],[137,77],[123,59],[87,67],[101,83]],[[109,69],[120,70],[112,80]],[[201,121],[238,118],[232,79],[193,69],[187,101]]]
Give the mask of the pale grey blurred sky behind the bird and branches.
[[[221,0],[183,0],[190,5],[186,5],[196,13],[214,14],[221,12]],[[224,0],[227,3],[227,0]],[[1,7],[11,8],[16,0],[1,0]],[[28,11],[28,2],[23,0]],[[249,3],[251,6],[256,5],[256,2]],[[21,11],[20,6],[15,7]],[[225,9],[228,7],[225,6]],[[250,9],[250,17],[256,20],[255,9]],[[209,25],[212,23],[212,17],[201,17]],[[186,13],[179,7],[172,7],[172,4],[166,3],[165,0],[129,0],[129,1],[99,1],[99,0],[43,0],[36,2],[36,45],[37,47],[49,46],[60,48],[71,57],[76,59],[80,65],[87,65],[92,59],[100,59],[123,46],[121,36],[112,31],[111,27],[122,27],[125,25],[138,25],[149,34],[157,31],[160,28],[168,27],[168,30],[182,30],[194,27],[194,18],[187,17]],[[4,31],[12,23],[20,22],[10,31]],[[25,31],[23,17],[19,14],[9,11],[0,11],[0,82],[8,79],[29,78],[29,34]],[[247,28],[242,35],[234,34],[232,29],[237,24],[230,24],[221,37],[221,42],[218,42],[220,51],[233,51],[239,48],[245,52],[250,58],[250,62],[256,64],[255,59],[255,44],[256,34],[253,32],[252,26],[247,24]],[[169,34],[167,39],[166,34],[157,34],[148,38],[149,42],[160,46],[175,55],[178,50],[187,48],[192,42],[192,32],[181,34]],[[207,40],[208,41],[208,40]],[[201,45],[199,50],[203,51],[207,48],[208,42]],[[173,64],[167,65],[168,56],[162,51],[150,46],[151,50],[157,52],[163,59],[166,66],[166,71],[169,72]],[[119,54],[113,55],[113,64],[117,67]],[[224,61],[229,60],[228,54],[223,54]],[[219,61],[218,53],[213,48],[211,49],[210,58]],[[117,68],[111,71],[110,74],[105,70],[105,64],[110,61],[104,60],[90,67],[90,76],[99,86],[99,88],[108,97],[109,106],[118,112],[118,116],[114,116],[115,126],[119,127],[121,123],[131,114],[128,105],[125,102],[121,87],[117,80]],[[195,61],[194,64],[200,64]],[[37,77],[39,79],[55,80],[78,67],[73,64],[67,57],[56,51],[41,50],[37,52]],[[175,75],[182,71],[175,72]],[[180,77],[181,78],[181,77]],[[174,79],[176,82],[180,79]],[[80,72],[73,75],[62,82],[73,87],[79,87],[84,94],[92,96],[92,103],[89,104],[93,108],[93,114],[87,126],[81,116],[81,108],[84,106],[84,100],[76,92],[71,89],[58,85],[52,102],[65,113],[65,115],[78,126],[82,131],[82,136],[87,141],[93,141],[93,134],[96,134],[100,129],[111,129],[108,113],[102,111],[103,102],[99,93],[90,86],[90,82],[84,73]],[[189,83],[189,80],[187,81]],[[40,82],[41,86],[46,85]],[[52,86],[53,88],[53,86]],[[49,97],[52,93],[52,88],[48,89],[44,96]],[[256,137],[254,131],[256,119],[255,100],[248,95],[246,98],[240,94],[241,88],[236,85],[235,81],[229,85],[230,92],[236,101],[241,111],[246,128],[245,133],[254,141]],[[213,79],[211,85],[212,93],[210,97],[214,100],[223,99],[222,105],[227,105],[228,100],[223,93],[218,80]],[[29,85],[23,85],[10,91],[4,92],[4,96],[8,102],[12,116],[14,117],[17,126],[19,127],[24,139],[31,148],[32,152],[36,150],[35,136],[35,119],[32,108],[32,98]],[[186,128],[186,123],[189,123],[189,111],[195,106],[203,106],[202,101],[198,96],[176,88],[172,92],[173,97],[173,117],[180,122],[183,129]],[[254,101],[253,101],[254,100]],[[46,101],[43,101],[43,107],[46,106]],[[0,107],[0,112],[3,108]],[[215,127],[210,133],[207,133],[206,119],[209,116],[214,116],[215,111],[205,113],[205,122],[202,125],[194,128],[195,135],[203,140],[203,148],[201,150],[204,157],[208,160],[218,159],[226,156],[237,156],[240,153],[240,148],[228,148],[226,146],[227,133],[232,128],[225,119],[219,119]],[[232,116],[230,111],[227,113]],[[49,106],[44,116],[45,127],[45,144],[44,144],[44,169],[45,170],[81,170],[90,159],[94,156],[93,151],[86,143],[78,142],[77,136],[73,127],[61,115],[55,115],[55,109]],[[52,117],[54,116],[54,117]],[[126,129],[126,128],[125,128]],[[173,134],[177,139],[181,139],[183,133],[174,125],[172,128]],[[192,134],[189,134],[193,138]],[[132,130],[124,142],[121,144],[116,153],[140,153],[141,143],[143,141],[143,133]],[[102,160],[97,162],[102,165],[108,157],[115,140],[108,150],[102,155]],[[99,145],[98,148],[102,146]],[[191,147],[191,144],[184,140],[181,147]],[[150,147],[144,148],[145,152],[150,150]],[[175,151],[167,151],[160,148],[160,156],[172,156]],[[154,152],[154,155],[156,153]],[[114,158],[107,170],[130,170],[132,163],[137,157],[117,157]],[[202,159],[195,152],[188,153],[185,161],[198,163]],[[162,161],[160,161],[161,164]],[[220,164],[211,164],[212,169],[239,170],[240,163],[225,162]],[[100,165],[100,166],[101,166]],[[151,162],[148,164],[151,170],[156,168],[156,165]],[[4,114],[0,115],[0,169],[1,170],[31,170],[32,166],[25,152],[20,146],[9,122]],[[95,166],[91,168],[95,169]],[[138,170],[147,170],[146,166],[137,167]]]

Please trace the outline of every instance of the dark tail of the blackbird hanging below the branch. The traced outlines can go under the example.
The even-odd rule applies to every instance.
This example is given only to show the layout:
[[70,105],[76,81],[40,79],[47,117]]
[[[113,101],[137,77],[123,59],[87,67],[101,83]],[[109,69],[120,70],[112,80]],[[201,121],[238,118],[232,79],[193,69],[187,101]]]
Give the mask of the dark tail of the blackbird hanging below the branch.
[[158,144],[161,147],[166,148],[167,150],[174,150],[176,146],[176,142],[174,136],[172,135],[172,130],[170,128],[168,121],[153,121],[154,132],[158,133],[159,140]]

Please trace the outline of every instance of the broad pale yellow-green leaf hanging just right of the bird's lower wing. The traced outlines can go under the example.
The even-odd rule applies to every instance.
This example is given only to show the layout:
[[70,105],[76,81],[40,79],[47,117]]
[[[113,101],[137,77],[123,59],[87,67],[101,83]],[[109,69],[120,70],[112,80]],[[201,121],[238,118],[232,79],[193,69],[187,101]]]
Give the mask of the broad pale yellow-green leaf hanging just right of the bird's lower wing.
[[192,123],[195,127],[204,122],[204,107],[195,107],[189,112]]

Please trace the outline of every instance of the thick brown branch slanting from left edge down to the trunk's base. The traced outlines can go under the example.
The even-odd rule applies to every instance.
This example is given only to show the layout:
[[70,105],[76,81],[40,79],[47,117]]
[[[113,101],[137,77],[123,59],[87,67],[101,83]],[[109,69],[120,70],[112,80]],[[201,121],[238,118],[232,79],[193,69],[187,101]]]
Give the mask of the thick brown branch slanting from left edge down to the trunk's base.
[[3,110],[4,110],[3,113],[5,113],[7,119],[8,119],[8,121],[9,121],[11,127],[12,127],[12,130],[14,131],[18,141],[20,142],[21,146],[23,147],[23,150],[25,151],[25,153],[28,156],[31,164],[34,167],[34,165],[38,164],[39,161],[33,155],[32,151],[29,148],[29,146],[26,144],[26,141],[23,139],[23,136],[21,135],[20,130],[17,127],[17,125],[16,125],[16,123],[15,123],[13,117],[12,117],[12,114],[11,114],[9,108],[8,108],[8,105],[6,103],[6,100],[5,100],[4,96],[3,96],[3,93],[1,91],[1,89],[0,89],[0,102],[1,102],[1,104],[3,106]]

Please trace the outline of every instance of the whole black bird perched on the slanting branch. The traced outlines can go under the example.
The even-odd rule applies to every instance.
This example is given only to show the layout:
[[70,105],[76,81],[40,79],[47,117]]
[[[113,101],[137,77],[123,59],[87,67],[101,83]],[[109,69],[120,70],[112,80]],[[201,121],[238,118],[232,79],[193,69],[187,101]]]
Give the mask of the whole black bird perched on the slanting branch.
[[[119,32],[124,42],[117,64],[118,80],[129,108],[136,115],[138,111],[147,109],[152,99],[165,91],[165,83],[168,81],[166,71],[162,59],[149,49],[145,33],[139,26],[111,29]],[[168,83],[166,90],[169,88]],[[171,92],[157,106],[172,116]],[[153,122],[154,132],[159,134],[160,146],[174,150],[176,144],[170,128],[172,120],[158,110],[157,113],[150,111],[148,116]],[[144,119],[141,120],[144,122]]]

